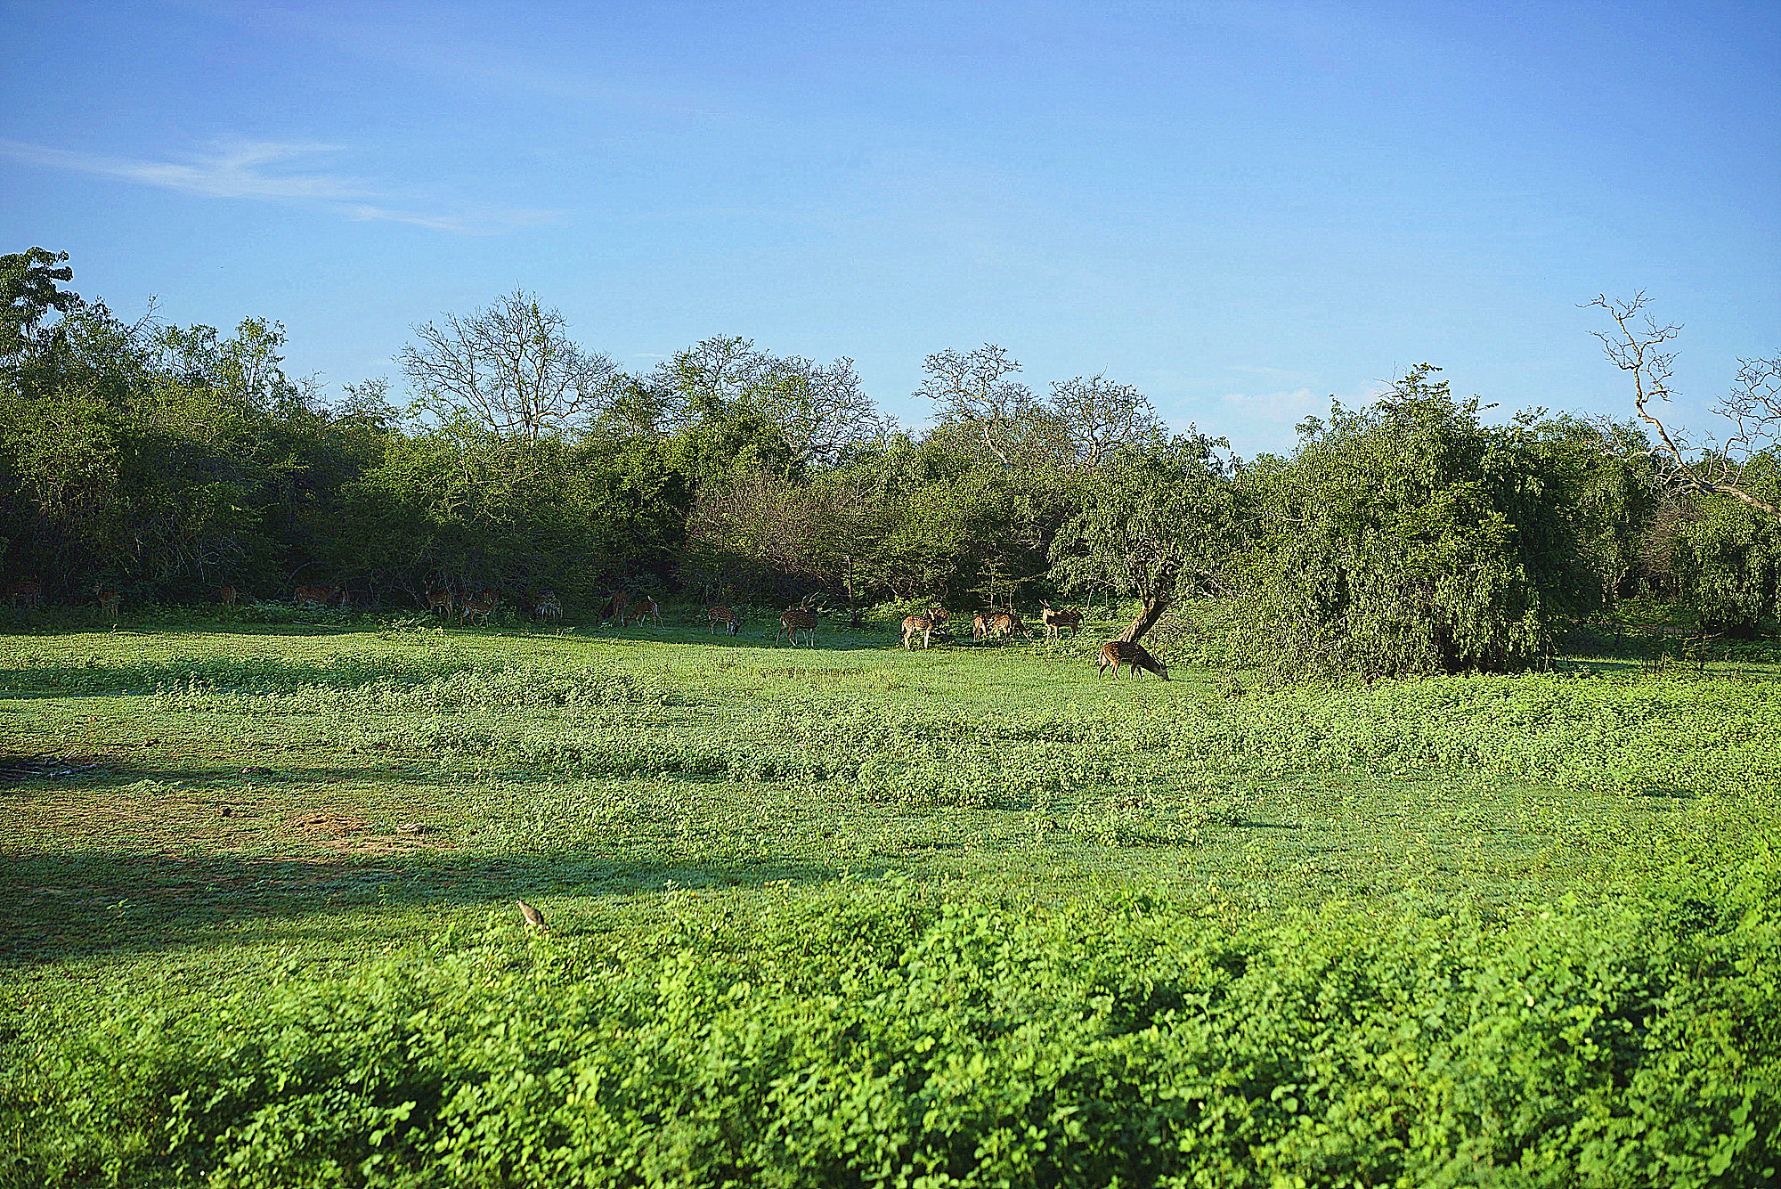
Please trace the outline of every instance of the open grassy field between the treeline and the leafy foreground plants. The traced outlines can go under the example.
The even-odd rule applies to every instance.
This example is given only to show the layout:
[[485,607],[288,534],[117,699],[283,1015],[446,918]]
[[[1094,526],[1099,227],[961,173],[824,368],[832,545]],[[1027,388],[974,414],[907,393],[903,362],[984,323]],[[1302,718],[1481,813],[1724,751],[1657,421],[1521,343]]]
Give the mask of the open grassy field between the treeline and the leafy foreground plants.
[[[248,1095],[230,1107],[235,1130],[180,1148],[155,1105],[159,1089],[132,1098],[139,1086],[114,1088],[119,1098],[105,1105],[112,1091],[94,1072],[105,1048],[69,1039],[112,1036],[109,1045],[128,1048],[107,1029],[155,1020],[159,1039],[142,1041],[142,1052],[160,1056],[142,1059],[160,1061],[155,1077],[171,1079],[173,1098],[185,1091],[166,1070],[189,1059],[199,1036],[223,1034],[216,1023],[192,1032],[194,1020],[235,1020],[239,1036],[251,1032],[244,1020],[297,1002],[292,993],[313,1007],[315,995],[351,999],[358,991],[340,988],[383,979],[378,995],[395,995],[392,970],[424,984],[467,956],[481,974],[438,991],[438,1002],[495,1002],[513,979],[545,979],[561,995],[588,984],[591,970],[641,963],[657,988],[650,1011],[670,1018],[663,963],[700,952],[711,970],[730,972],[721,995],[780,979],[773,1011],[789,1013],[785,1027],[796,1031],[800,1011],[816,1011],[798,1004],[826,1002],[864,977],[858,963],[878,968],[871,954],[887,943],[885,920],[901,931],[885,936],[903,938],[903,968],[910,940],[931,942],[958,906],[1015,934],[1040,929],[1038,950],[1063,945],[1079,967],[1122,956],[1120,970],[1151,970],[1147,995],[1167,983],[1170,995],[1191,999],[1183,970],[1199,968],[1193,961],[1181,958],[1172,972],[1147,965],[1159,961],[1158,938],[1245,952],[1323,952],[1330,938],[1371,938],[1355,945],[1377,959],[1412,942],[1468,936],[1484,956],[1516,945],[1569,954],[1617,931],[1649,938],[1653,913],[1674,926],[1678,913],[1696,911],[1678,904],[1708,904],[1715,920],[1729,920],[1731,910],[1715,908],[1724,901],[1756,906],[1738,920],[1770,922],[1765,942],[1749,942],[1756,958],[1744,975],[1774,986],[1781,678],[1760,664],[1653,675],[1626,660],[1573,659],[1551,675],[1256,691],[1181,664],[1170,682],[1097,680],[1094,650],[1113,634],[1108,623],[1060,644],[905,651],[887,627],[825,628],[817,648],[789,648],[771,646],[759,625],[723,637],[675,627],[673,614],[666,628],[607,632],[312,619],[0,635],[0,897],[9,904],[0,1036],[11,1054],[16,1155],[7,1175],[16,1184],[568,1184],[568,1166],[549,1162],[536,1168],[554,1171],[536,1180],[524,1162],[470,1162],[447,1177],[438,1153],[379,1164],[372,1148],[408,1127],[388,1120],[354,1132],[360,1148],[370,1143],[363,1152],[342,1139],[356,1155],[328,1157],[326,1168],[296,1157],[232,1164],[230,1152],[281,1150],[240,1130],[251,1111],[262,1111],[253,1127],[269,1127],[264,1109],[278,1095]],[[515,899],[536,904],[550,934],[527,934]],[[1147,908],[1133,917],[1133,904]],[[1541,924],[1555,911],[1569,922],[1562,929]],[[1380,929],[1396,940],[1380,940]],[[1697,933],[1683,922],[1665,936],[1694,945]],[[1142,958],[1131,952],[1140,934]],[[1341,952],[1329,961],[1346,961]],[[1092,983],[1072,974],[1045,1002],[1094,1002]],[[1393,995],[1378,1000],[1380,1020],[1403,1011],[1387,1002]],[[344,1000],[328,1002],[346,1013]],[[403,1004],[401,1013],[413,1009]],[[750,1018],[778,1018],[773,1011]],[[1749,1136],[1712,1178],[1719,1157],[1697,1153],[1697,1184],[1758,1184],[1738,1178],[1770,1168],[1776,1093],[1756,1072],[1776,1068],[1774,1027],[1740,1036],[1715,1052],[1738,1054],[1724,1068],[1726,1084],[1744,1086],[1744,1098],[1728,1091],[1728,1102],[1744,1105],[1726,1111],[1744,1116],[1726,1127],[1744,1134],[1747,1125]],[[1699,1064],[1692,1048],[1676,1052]],[[91,1089],[75,1105],[71,1084]],[[1297,1111],[1311,1095],[1300,1088],[1291,1098]],[[734,1118],[753,1118],[752,1109]],[[1004,1102],[980,1114],[1021,1109]],[[75,1139],[61,1146],[30,1137],[46,1111],[137,1139],[75,1143],[89,1132],[73,1125]],[[835,1107],[825,1118],[869,1114]],[[659,1130],[679,1116],[657,1105],[648,1118]],[[736,1121],[725,1118],[714,1127],[728,1134]],[[313,1134],[306,1127],[299,1132]],[[1403,1120],[1380,1127],[1414,1130]],[[1179,1184],[1418,1184],[1455,1152],[1471,1152],[1473,1166],[1496,1168],[1501,1180],[1453,1180],[1450,1169],[1448,1184],[1687,1184],[1649,1161],[1644,1180],[1589,1180],[1576,1171],[1582,1157],[1542,1180],[1526,1145],[1512,1150],[1519,1141],[1503,1137],[1514,1128],[1501,1120],[1476,1127],[1498,1145],[1482,1157],[1462,1143],[1473,1136],[1464,1128],[1446,1139],[1400,1136],[1384,1145],[1395,1152],[1378,1157],[1384,1164],[1338,1161],[1339,1177],[1327,1171],[1338,1164],[1318,1164],[1327,1153],[1232,1139],[1218,1148],[1224,1171]],[[910,1153],[924,1152],[926,1132],[910,1134],[873,1159],[917,1184],[907,1169],[919,1164]],[[1054,1127],[1037,1150],[1069,1150],[1063,1134]],[[289,1136],[280,1143],[289,1146]],[[944,1175],[926,1184],[971,1184],[965,1171],[999,1168],[1001,1148],[972,1143],[965,1155],[923,1157],[923,1175]],[[1008,1141],[1021,1143],[1035,1141]],[[155,1155],[157,1145],[171,1146]],[[1434,1153],[1421,1164],[1411,1157],[1418,1145]],[[705,1157],[682,1148],[684,1159],[634,1153],[636,1175],[586,1182],[871,1180],[848,1162],[857,1145],[837,1148],[853,1155],[809,1180],[766,1157],[700,1164]],[[600,1152],[573,1168],[623,1168]],[[1022,1159],[1015,1164],[1028,1175],[1015,1171],[1010,1184],[1104,1184],[1088,1164],[1078,1177],[1045,1164],[1051,1157]],[[1156,1169],[1165,1166],[1175,1168]],[[1152,1178],[1163,1175],[1156,1169]]]

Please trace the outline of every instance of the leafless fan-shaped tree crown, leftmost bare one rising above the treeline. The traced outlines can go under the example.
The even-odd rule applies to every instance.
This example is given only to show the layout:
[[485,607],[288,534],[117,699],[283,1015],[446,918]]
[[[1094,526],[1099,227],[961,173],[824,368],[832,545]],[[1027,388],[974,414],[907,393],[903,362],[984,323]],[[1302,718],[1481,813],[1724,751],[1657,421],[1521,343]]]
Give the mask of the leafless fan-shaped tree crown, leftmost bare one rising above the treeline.
[[415,406],[499,436],[538,440],[577,429],[622,379],[616,363],[568,340],[563,315],[513,290],[488,310],[415,326],[397,361]]

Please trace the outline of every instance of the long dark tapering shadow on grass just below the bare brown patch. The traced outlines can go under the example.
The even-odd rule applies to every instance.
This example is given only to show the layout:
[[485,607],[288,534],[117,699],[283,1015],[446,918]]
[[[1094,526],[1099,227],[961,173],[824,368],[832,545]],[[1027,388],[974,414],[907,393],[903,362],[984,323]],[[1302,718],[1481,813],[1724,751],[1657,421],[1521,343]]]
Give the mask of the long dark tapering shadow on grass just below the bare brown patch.
[[[862,874],[857,865],[848,870]],[[271,858],[14,849],[0,853],[0,901],[9,906],[0,918],[0,967],[216,945],[256,924],[287,926],[296,938],[342,913],[511,910],[522,897],[549,902],[839,878],[841,869],[803,860],[616,860],[586,851],[490,856],[417,847]],[[322,931],[338,938],[337,929]]]

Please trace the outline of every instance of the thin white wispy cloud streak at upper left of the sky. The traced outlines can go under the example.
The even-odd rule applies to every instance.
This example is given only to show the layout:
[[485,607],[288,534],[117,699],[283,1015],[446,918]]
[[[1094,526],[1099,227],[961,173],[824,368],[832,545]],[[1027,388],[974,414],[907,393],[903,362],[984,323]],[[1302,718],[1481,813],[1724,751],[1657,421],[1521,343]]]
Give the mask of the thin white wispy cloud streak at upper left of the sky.
[[538,210],[433,214],[374,205],[365,199],[390,196],[356,178],[315,167],[317,157],[338,151],[342,148],[337,144],[235,141],[207,153],[192,153],[187,160],[139,160],[0,139],[0,157],[32,166],[118,178],[198,198],[299,203],[362,222],[408,222],[456,235],[493,235],[516,226],[547,222],[552,217]]

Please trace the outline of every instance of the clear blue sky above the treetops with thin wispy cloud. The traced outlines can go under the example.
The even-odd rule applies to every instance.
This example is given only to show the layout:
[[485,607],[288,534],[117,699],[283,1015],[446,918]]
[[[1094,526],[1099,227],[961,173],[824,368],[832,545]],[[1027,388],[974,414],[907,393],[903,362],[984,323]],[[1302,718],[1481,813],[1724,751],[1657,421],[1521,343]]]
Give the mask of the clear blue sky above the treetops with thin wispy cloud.
[[1284,449],[1430,361],[1683,415],[1781,351],[1774,4],[12,4],[0,244],[125,317],[278,319],[331,393],[515,285],[647,368],[983,342]]

